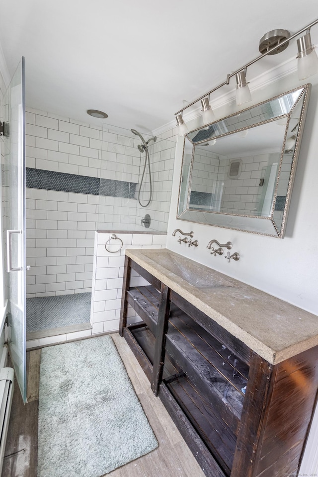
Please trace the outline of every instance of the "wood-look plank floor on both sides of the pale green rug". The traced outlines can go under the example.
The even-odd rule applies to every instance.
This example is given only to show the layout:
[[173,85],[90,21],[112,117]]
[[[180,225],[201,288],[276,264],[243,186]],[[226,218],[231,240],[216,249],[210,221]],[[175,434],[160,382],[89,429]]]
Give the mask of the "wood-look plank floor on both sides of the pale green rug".
[[[112,335],[159,447],[108,474],[111,477],[204,477],[124,338]],[[90,338],[94,339],[94,338]],[[28,351],[28,404],[15,383],[2,477],[37,476],[37,415],[41,350]],[[124,445],[124,443],[123,443]],[[50,476],[51,477],[51,476]],[[54,476],[52,476],[54,477]]]

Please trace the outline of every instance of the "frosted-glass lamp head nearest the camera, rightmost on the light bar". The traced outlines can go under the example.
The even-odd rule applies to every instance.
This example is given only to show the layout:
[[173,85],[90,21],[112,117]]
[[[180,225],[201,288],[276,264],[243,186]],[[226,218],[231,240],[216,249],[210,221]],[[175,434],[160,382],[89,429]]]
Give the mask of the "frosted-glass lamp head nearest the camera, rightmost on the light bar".
[[310,28],[306,35],[297,39],[298,46],[298,78],[305,79],[318,73],[318,56],[312,44]]

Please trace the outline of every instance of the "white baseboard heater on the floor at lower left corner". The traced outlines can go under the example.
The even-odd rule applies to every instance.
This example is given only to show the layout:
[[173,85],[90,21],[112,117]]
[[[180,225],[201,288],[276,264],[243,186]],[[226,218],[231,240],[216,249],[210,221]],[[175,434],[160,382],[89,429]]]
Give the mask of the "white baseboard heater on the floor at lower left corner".
[[9,426],[13,389],[13,369],[2,368],[0,370],[0,475],[2,472],[6,435]]

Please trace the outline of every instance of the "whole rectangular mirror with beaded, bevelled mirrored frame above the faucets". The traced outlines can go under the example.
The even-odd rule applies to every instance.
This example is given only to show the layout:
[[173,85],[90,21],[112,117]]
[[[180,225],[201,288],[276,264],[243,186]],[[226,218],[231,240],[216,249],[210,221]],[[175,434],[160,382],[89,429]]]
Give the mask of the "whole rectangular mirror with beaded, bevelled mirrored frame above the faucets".
[[310,88],[190,131],[177,219],[284,238]]

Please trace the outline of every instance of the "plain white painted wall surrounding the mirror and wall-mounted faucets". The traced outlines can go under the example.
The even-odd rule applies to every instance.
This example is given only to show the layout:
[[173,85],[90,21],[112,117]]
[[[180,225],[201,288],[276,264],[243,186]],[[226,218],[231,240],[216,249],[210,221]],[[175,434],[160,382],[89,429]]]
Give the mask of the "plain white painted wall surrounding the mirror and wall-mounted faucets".
[[[314,80],[285,238],[275,239],[177,220],[183,142],[183,139],[179,139],[175,156],[167,247],[300,308],[318,314],[318,134],[316,133],[318,131],[318,79],[314,78]],[[253,103],[256,104],[258,101],[293,89],[304,82],[300,83],[296,75],[293,74],[262,90],[254,91]],[[251,103],[247,106],[249,105]],[[216,110],[215,113],[217,118],[221,118],[238,110],[237,106],[230,104],[223,107],[222,111]],[[198,126],[200,126],[199,120],[193,120],[188,125],[189,129]],[[177,228],[185,232],[193,230],[194,239],[198,239],[199,246],[195,248],[187,247],[185,244],[179,245],[177,237],[171,236],[173,230]],[[210,255],[206,246],[211,239],[217,239],[221,243],[231,240],[233,242],[232,251],[237,251],[240,254],[239,261],[228,263],[223,256]]]

